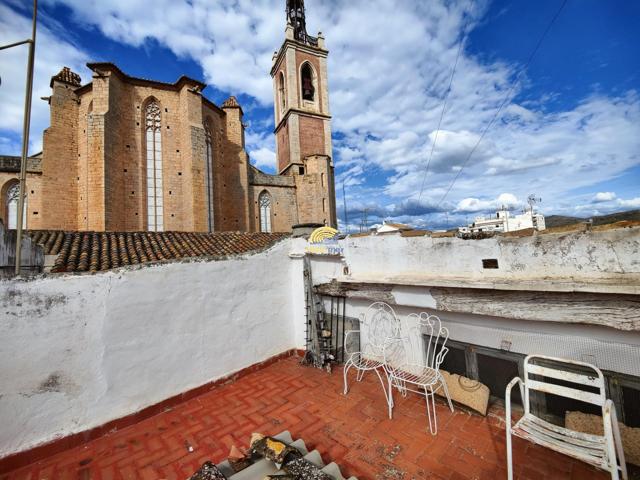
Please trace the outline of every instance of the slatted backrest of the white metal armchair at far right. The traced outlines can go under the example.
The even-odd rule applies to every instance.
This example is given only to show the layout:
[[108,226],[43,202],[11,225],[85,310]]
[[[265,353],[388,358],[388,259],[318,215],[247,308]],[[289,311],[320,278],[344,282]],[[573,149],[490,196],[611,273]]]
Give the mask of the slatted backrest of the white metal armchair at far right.
[[[563,365],[565,368],[562,368]],[[589,373],[584,373],[585,370]],[[570,383],[571,386],[550,383],[540,377]],[[576,386],[587,387],[588,390],[581,390]],[[604,376],[598,367],[586,362],[545,355],[529,355],[524,359],[524,407],[526,413],[530,413],[529,394],[531,390],[572,398],[599,407],[604,407],[607,399]]]

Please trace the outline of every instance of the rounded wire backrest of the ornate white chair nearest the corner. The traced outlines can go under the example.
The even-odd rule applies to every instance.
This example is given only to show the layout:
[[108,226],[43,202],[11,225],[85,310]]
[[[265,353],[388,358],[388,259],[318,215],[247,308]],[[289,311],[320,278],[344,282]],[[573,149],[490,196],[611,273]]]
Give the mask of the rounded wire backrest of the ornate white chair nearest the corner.
[[374,302],[360,317],[360,351],[382,357],[388,339],[398,336],[400,321],[389,305]]

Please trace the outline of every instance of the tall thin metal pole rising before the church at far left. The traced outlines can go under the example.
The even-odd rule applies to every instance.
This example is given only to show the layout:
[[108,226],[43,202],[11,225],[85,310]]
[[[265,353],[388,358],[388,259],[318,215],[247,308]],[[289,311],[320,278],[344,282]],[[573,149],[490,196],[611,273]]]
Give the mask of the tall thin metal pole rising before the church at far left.
[[31,126],[31,95],[33,93],[33,59],[36,50],[36,16],[38,0],[33,0],[33,24],[29,41],[29,61],[27,64],[27,83],[24,98],[24,123],[22,125],[22,158],[20,160],[20,190],[18,197],[18,225],[16,225],[16,275],[20,275],[22,263],[22,222],[24,222],[24,196],[27,179],[27,154],[29,152],[29,127]]

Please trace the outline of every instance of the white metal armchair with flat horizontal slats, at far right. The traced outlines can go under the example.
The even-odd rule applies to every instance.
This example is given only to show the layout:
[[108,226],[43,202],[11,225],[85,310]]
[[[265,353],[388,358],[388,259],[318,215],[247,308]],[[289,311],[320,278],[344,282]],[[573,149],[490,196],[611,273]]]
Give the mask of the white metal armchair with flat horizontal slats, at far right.
[[[562,364],[568,369],[563,369]],[[584,372],[585,370],[588,370],[589,373],[576,373]],[[544,381],[543,377],[560,380],[563,385],[548,383]],[[571,386],[565,386],[567,383],[571,384]],[[512,426],[511,389],[515,384],[520,387],[524,415]],[[586,389],[581,390],[577,387],[586,387]],[[598,405],[602,408],[604,435],[575,432],[536,417],[531,413],[530,409],[531,390]],[[516,377],[507,385],[505,405],[507,472],[509,480],[513,479],[511,435],[516,435],[606,470],[611,474],[612,479],[619,479],[619,473],[621,473],[622,478],[627,480],[627,467],[624,461],[624,451],[622,450],[615,405],[606,398],[604,377],[597,367],[588,363],[562,358],[529,355],[524,360],[524,380]],[[618,462],[620,462],[619,465]]]

